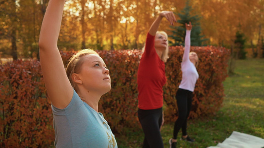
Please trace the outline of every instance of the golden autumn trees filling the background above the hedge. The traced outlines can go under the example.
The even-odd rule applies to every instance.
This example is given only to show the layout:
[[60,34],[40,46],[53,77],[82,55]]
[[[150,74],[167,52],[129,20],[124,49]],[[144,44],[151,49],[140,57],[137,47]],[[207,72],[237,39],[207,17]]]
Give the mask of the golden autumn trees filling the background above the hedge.
[[[33,57],[32,53],[38,52],[39,30],[48,2],[0,0],[2,53],[17,59]],[[183,13],[179,12],[185,10],[186,0],[66,0],[58,48],[140,49],[159,12],[168,10],[179,14],[176,15],[179,31],[173,28],[175,33],[167,32],[171,28],[165,21],[161,22],[160,31],[183,40],[184,23],[191,21],[194,27],[191,37],[205,35],[210,38],[207,44],[236,50],[234,41],[236,32],[240,30],[247,38],[245,45],[252,48],[256,57],[262,57],[264,0],[189,0],[189,5],[189,17],[199,14],[194,20],[180,16]],[[195,21],[200,24],[195,24]],[[196,27],[201,27],[197,33]],[[176,36],[176,31],[181,36]],[[196,41],[198,45],[204,43],[198,38],[192,39],[192,45]]]

